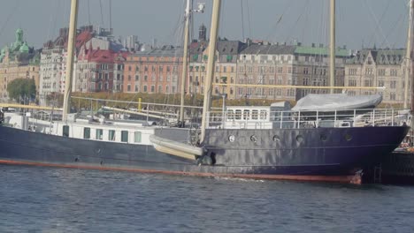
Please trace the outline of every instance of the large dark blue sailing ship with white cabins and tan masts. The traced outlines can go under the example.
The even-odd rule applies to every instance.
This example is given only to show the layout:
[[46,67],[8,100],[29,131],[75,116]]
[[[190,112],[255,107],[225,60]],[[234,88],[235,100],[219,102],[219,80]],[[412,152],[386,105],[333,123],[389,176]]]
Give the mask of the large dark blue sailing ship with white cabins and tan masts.
[[[213,5],[208,57],[216,50],[220,3]],[[73,36],[69,41],[73,51]],[[73,58],[67,60],[72,69]],[[274,104],[212,112],[207,86],[214,59],[208,62],[201,132],[68,115],[68,80],[62,121],[4,114],[0,163],[360,184],[364,169],[398,147],[409,130],[389,109],[345,114]]]

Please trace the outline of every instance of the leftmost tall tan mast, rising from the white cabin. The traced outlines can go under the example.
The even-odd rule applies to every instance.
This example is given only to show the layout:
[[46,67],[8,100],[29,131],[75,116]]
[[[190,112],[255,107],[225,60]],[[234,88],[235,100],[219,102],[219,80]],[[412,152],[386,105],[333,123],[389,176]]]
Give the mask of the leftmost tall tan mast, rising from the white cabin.
[[66,77],[65,77],[65,95],[63,108],[63,121],[67,121],[67,114],[70,112],[70,97],[72,92],[73,60],[74,60],[74,42],[76,37],[76,23],[78,19],[78,0],[72,0],[71,18],[69,19],[69,38],[67,41],[67,60],[66,60]]

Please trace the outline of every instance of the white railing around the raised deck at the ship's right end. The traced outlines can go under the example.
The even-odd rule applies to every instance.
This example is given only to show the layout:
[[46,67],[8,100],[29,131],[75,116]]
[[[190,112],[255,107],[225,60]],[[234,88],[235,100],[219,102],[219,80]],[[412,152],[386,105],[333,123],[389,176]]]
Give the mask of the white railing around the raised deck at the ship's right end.
[[[407,124],[408,115],[395,109],[350,109],[334,111],[264,111],[256,115],[248,109],[211,111],[209,128],[272,129],[318,127],[367,127]],[[237,112],[237,113],[235,113]]]

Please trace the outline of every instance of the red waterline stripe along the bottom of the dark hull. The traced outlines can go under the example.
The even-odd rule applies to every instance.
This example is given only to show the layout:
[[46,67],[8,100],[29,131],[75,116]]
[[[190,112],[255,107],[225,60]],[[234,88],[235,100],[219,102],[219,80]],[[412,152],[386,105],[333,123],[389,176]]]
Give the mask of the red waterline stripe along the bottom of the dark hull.
[[192,177],[237,177],[237,178],[249,178],[249,179],[268,179],[268,180],[295,180],[295,181],[323,181],[334,183],[351,183],[361,184],[360,177],[357,176],[295,176],[295,175],[265,175],[265,174],[212,174],[203,172],[186,172],[186,171],[165,171],[155,169],[122,169],[122,168],[103,168],[97,166],[84,166],[84,165],[64,165],[42,162],[18,162],[9,160],[0,160],[0,164],[10,165],[29,165],[38,167],[54,167],[65,169],[96,169],[96,170],[112,170],[112,171],[128,171],[139,173],[157,173],[168,175],[185,175]]

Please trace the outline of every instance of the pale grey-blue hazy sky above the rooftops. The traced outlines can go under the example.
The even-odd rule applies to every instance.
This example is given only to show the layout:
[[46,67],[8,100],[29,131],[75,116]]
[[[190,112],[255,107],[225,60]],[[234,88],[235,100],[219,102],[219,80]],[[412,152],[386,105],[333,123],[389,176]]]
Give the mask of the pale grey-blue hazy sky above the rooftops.
[[[109,27],[118,35],[136,34],[140,41],[177,44],[181,41],[184,0],[79,0],[78,26]],[[212,0],[194,17],[194,28],[210,27]],[[223,0],[221,37],[242,37],[304,44],[325,43],[329,0]],[[351,49],[405,47],[408,0],[336,0],[337,45]],[[197,1],[195,0],[195,4]],[[89,5],[89,7],[88,7]],[[101,7],[102,5],[102,7]],[[21,27],[29,45],[40,48],[68,25],[70,0],[0,0],[0,47],[14,41]],[[88,11],[89,9],[89,11]],[[101,11],[102,9],[102,11]],[[242,11],[243,9],[243,11]]]

